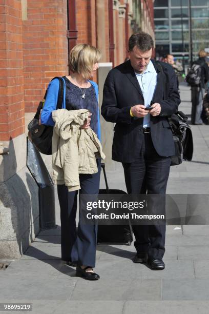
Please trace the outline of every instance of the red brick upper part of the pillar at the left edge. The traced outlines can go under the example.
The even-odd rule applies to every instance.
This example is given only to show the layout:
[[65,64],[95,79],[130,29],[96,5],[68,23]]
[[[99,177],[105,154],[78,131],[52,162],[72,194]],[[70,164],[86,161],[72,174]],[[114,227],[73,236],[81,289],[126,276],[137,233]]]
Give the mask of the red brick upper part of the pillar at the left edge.
[[0,140],[24,133],[22,10],[20,0],[0,1]]

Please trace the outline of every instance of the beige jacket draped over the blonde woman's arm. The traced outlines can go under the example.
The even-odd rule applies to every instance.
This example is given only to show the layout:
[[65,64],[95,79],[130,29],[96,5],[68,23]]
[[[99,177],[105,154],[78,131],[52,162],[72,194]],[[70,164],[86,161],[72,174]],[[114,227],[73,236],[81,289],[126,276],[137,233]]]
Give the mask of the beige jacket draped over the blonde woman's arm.
[[55,122],[52,138],[52,167],[55,184],[69,191],[80,189],[79,173],[98,172],[96,156],[105,159],[101,143],[91,128],[81,129],[89,110],[52,111]]

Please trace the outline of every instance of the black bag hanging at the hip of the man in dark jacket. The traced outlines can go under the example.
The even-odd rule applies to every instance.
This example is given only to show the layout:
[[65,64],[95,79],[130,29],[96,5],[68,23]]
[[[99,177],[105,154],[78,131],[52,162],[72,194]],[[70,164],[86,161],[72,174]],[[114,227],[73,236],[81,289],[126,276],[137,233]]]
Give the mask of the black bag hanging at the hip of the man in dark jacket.
[[168,117],[173,133],[175,154],[171,156],[171,166],[180,165],[184,160],[191,161],[193,156],[192,131],[187,124],[187,116],[182,111]]

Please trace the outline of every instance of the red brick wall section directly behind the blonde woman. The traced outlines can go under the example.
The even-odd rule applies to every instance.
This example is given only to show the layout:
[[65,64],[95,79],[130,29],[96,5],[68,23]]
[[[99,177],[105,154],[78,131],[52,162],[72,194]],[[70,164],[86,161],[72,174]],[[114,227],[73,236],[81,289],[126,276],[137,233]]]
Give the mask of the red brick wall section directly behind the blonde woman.
[[68,74],[67,0],[28,0],[23,38],[25,110],[31,112],[51,78]]

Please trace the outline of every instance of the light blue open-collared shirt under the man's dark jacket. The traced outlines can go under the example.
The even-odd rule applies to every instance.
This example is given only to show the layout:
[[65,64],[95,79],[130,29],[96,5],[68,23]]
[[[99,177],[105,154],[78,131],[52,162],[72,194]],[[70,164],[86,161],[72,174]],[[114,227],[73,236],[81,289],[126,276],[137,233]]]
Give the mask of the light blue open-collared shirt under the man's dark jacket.
[[[136,72],[135,74],[143,93],[144,106],[150,106],[157,85],[157,72],[152,61],[149,62],[148,67],[143,72],[143,74],[139,74]],[[143,119],[143,128],[148,127],[150,127],[150,113],[144,116]]]

